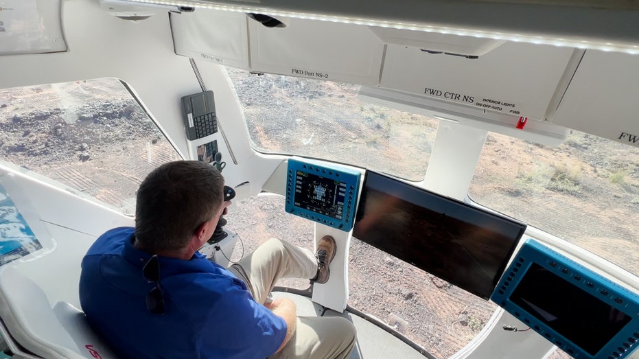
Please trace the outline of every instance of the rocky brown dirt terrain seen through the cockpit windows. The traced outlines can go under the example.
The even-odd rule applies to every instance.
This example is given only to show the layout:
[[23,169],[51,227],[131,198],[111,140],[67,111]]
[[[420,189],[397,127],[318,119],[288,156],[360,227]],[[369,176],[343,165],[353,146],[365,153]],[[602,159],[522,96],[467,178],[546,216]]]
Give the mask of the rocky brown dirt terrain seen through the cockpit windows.
[[[356,89],[342,84],[246,76],[235,85],[258,148],[357,163],[414,181],[426,170],[437,120],[363,106]],[[340,89],[345,92],[335,95]],[[299,115],[303,108],[320,111]],[[639,273],[633,240],[639,151],[618,146],[578,133],[559,148],[489,135],[469,195]],[[126,213],[146,173],[177,159],[113,79],[0,91],[0,154]],[[312,222],[285,213],[280,196],[237,202],[227,219],[242,240],[234,260],[272,237],[312,244]],[[467,345],[496,309],[356,238],[349,251],[349,305],[384,323],[403,319],[406,336],[437,358]],[[281,284],[307,287],[307,281]]]

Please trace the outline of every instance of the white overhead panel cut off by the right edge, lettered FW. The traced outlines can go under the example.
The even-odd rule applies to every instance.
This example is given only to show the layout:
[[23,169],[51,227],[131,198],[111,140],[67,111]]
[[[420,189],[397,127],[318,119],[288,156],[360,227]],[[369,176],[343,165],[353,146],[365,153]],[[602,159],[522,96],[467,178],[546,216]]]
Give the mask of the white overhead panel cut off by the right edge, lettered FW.
[[639,56],[588,50],[553,122],[639,146]]

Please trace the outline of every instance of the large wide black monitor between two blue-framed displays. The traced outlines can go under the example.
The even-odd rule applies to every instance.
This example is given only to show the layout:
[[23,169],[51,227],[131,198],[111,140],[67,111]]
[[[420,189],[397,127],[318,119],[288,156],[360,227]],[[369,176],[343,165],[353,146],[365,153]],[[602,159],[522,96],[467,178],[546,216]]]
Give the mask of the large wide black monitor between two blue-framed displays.
[[353,236],[488,299],[526,224],[368,171]]

